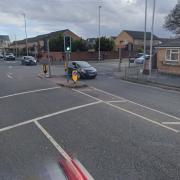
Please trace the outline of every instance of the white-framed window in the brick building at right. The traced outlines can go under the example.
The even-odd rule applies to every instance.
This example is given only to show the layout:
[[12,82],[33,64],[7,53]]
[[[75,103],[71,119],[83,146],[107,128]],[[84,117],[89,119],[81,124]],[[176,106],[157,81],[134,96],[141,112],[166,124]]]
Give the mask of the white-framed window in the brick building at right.
[[178,62],[179,61],[179,49],[167,49],[166,61]]

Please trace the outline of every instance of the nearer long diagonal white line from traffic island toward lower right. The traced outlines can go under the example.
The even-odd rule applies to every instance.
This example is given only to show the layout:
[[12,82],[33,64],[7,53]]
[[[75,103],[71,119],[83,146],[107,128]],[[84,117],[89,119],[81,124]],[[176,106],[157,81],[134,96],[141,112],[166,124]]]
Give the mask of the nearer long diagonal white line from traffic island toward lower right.
[[[79,92],[80,94],[83,94],[83,95],[85,95],[85,96],[88,96],[88,97],[91,97],[91,98],[94,99],[94,97],[91,96],[91,95],[89,95],[89,94],[86,94],[86,93],[84,93],[84,92],[81,92],[81,91],[79,91],[79,90],[77,90],[77,89],[73,89],[73,90],[76,91],[76,92]],[[98,99],[98,98],[96,98],[96,100],[99,100],[99,101],[100,101],[100,99]],[[161,126],[161,127],[163,127],[163,128],[166,128],[166,129],[171,130],[171,131],[173,131],[173,132],[176,132],[176,133],[179,132],[178,130],[176,130],[176,129],[174,129],[174,128],[170,128],[170,127],[168,127],[168,126],[165,126],[165,125],[163,125],[163,124],[161,124],[161,123],[158,123],[158,122],[156,122],[156,121],[154,121],[154,120],[152,120],[152,119],[149,119],[149,118],[147,118],[147,117],[145,117],[145,116],[139,115],[139,114],[137,114],[137,113],[133,113],[133,112],[131,112],[131,111],[129,111],[129,110],[126,110],[126,109],[121,108],[121,107],[119,107],[119,106],[113,105],[113,104],[108,103],[108,102],[106,102],[106,101],[103,101],[103,100],[101,100],[101,101],[102,101],[103,103],[109,105],[109,106],[112,106],[112,107],[114,107],[114,108],[116,108],[116,109],[119,109],[119,110],[121,110],[121,111],[127,112],[127,113],[129,113],[129,114],[132,114],[132,115],[134,115],[134,116],[140,117],[141,119],[144,119],[144,120],[146,120],[146,121],[148,121],[148,122],[151,122],[151,123],[153,123],[153,124],[156,124],[156,125],[158,125],[158,126]]]

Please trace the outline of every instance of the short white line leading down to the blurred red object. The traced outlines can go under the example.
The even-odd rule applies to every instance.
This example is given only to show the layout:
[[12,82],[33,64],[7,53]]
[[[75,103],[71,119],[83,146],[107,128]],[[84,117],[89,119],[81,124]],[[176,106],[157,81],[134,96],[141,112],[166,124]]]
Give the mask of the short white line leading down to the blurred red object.
[[41,132],[47,137],[47,139],[54,145],[54,147],[60,152],[60,154],[67,160],[71,160],[70,156],[64,151],[64,149],[54,140],[54,138],[39,124],[39,122],[34,121],[36,126],[41,130]]

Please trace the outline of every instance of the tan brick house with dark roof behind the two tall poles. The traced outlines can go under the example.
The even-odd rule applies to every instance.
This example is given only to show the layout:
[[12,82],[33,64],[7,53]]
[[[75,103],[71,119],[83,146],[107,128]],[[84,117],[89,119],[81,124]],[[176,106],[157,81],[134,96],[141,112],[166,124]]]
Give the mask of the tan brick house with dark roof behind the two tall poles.
[[[150,47],[151,33],[146,33],[146,47],[149,50]],[[153,35],[153,46],[160,43],[159,38]],[[122,45],[131,44],[132,51],[138,51],[139,49],[144,48],[144,32],[143,31],[130,31],[123,30],[115,38],[115,49],[117,50]]]

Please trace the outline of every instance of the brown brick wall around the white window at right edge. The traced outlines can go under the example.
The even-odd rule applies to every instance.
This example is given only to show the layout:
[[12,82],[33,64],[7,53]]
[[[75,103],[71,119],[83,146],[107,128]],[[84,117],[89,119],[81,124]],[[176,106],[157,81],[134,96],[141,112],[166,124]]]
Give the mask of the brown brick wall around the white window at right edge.
[[[179,49],[180,52],[180,49]],[[157,68],[159,72],[180,75],[180,54],[179,63],[177,64],[167,64],[166,58],[166,48],[160,48],[157,52]]]

